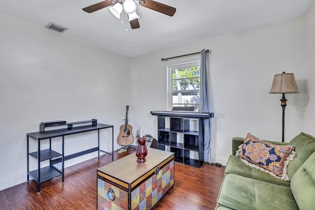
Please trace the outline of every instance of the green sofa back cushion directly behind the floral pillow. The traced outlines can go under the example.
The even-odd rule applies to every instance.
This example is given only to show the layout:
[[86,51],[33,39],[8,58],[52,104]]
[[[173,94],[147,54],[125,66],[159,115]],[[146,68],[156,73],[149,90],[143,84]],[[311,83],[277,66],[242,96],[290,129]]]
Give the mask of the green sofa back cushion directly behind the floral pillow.
[[294,145],[296,152],[296,157],[287,166],[287,175],[291,180],[295,172],[315,151],[315,137],[302,132],[294,137],[289,144]]

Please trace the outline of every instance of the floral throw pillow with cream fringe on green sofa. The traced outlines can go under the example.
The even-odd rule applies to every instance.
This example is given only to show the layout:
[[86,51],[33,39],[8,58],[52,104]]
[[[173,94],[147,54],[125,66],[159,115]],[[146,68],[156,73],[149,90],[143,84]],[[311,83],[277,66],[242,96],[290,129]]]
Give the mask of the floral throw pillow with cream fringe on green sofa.
[[285,181],[289,181],[286,167],[295,155],[293,145],[263,142],[250,133],[236,151],[236,156],[247,165]]

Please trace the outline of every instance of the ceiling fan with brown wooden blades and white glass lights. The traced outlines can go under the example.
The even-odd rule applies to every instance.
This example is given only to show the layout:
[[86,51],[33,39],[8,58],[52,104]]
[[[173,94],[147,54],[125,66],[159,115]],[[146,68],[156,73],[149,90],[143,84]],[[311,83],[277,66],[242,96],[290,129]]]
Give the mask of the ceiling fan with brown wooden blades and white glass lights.
[[117,18],[120,18],[120,14],[124,10],[129,16],[131,29],[138,29],[140,28],[140,25],[138,21],[139,16],[136,14],[136,2],[139,3],[141,6],[153,9],[168,16],[173,16],[176,12],[176,8],[163,3],[159,3],[154,0],[104,0],[83,8],[83,11],[92,13],[107,6],[111,6],[109,7],[109,10]]

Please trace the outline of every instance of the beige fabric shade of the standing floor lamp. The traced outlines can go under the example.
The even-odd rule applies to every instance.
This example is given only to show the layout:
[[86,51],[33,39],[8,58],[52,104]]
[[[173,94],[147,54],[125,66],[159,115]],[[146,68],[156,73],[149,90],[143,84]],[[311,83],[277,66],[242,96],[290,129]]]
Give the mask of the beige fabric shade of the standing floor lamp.
[[269,93],[297,93],[294,74],[282,73],[276,74],[272,82],[272,87]]

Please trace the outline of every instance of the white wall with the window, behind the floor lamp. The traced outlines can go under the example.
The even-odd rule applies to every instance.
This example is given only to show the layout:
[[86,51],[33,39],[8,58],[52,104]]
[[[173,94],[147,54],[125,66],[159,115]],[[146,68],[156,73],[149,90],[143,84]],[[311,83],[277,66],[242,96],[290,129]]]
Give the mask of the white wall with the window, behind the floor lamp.
[[[161,58],[212,51],[208,55],[212,120],[212,162],[223,165],[231,154],[233,137],[248,132],[260,139],[281,141],[281,94],[269,94],[275,74],[294,73],[300,90],[287,94],[285,142],[304,131],[314,132],[315,4],[306,16],[173,47],[131,60],[131,104],[134,126],[157,137],[157,117],[150,111],[166,110],[167,65],[199,60],[190,56]],[[206,26],[205,26],[206,27]],[[211,29],[209,29],[211,30]],[[209,64],[210,63],[210,64]],[[313,102],[313,103],[312,103]],[[153,126],[152,126],[153,125]]]

